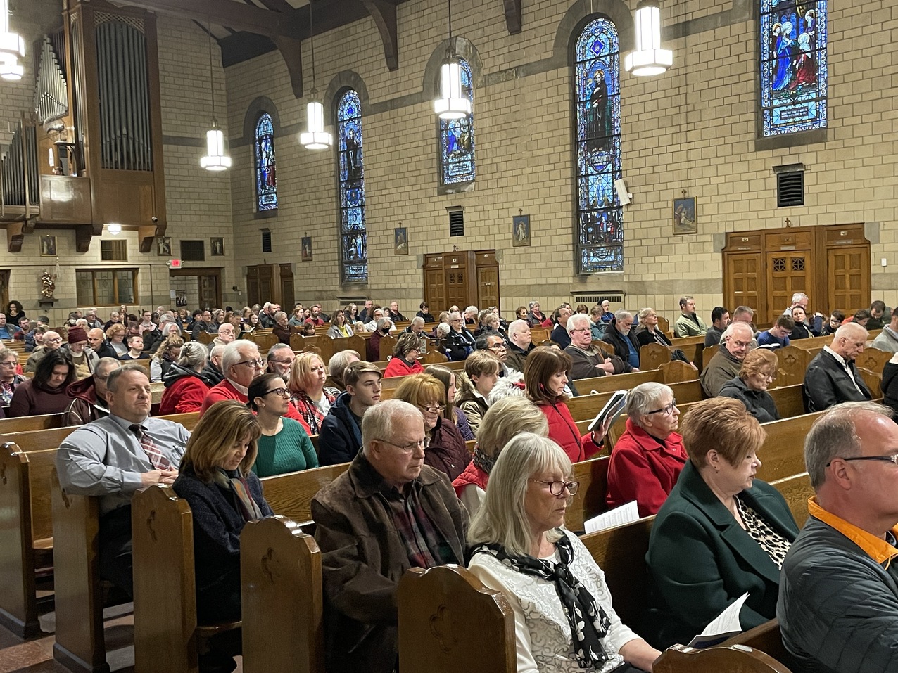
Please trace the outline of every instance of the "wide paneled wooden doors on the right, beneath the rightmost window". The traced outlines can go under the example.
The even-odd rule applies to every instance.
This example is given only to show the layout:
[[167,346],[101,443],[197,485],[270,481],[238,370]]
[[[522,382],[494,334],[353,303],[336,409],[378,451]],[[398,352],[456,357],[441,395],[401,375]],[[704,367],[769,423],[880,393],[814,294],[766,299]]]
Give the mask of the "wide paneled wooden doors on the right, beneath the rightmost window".
[[723,250],[726,308],[750,306],[770,324],[794,293],[808,310],[852,313],[870,305],[870,243],[863,224],[727,234]]

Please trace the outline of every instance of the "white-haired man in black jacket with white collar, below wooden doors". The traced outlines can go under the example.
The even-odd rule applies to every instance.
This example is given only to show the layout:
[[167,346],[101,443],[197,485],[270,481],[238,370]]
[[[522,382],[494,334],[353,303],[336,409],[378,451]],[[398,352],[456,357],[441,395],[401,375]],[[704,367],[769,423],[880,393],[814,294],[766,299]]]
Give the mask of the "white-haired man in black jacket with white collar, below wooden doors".
[[[46,337],[44,337],[46,338]],[[841,402],[864,402],[871,399],[854,360],[864,352],[867,329],[850,322],[838,328],[830,345],[814,355],[805,371],[801,396],[805,399],[805,411],[823,411]]]

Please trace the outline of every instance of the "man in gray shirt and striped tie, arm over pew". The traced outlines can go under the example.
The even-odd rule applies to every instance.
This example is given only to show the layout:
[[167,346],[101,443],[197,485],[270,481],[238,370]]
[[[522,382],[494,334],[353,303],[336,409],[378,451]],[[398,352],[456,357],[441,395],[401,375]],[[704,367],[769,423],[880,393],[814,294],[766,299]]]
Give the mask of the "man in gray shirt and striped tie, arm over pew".
[[113,370],[106,385],[110,415],[68,435],[57,472],[66,492],[101,496],[100,574],[131,596],[131,497],[139,488],[174,482],[190,433],[150,417],[145,368]]

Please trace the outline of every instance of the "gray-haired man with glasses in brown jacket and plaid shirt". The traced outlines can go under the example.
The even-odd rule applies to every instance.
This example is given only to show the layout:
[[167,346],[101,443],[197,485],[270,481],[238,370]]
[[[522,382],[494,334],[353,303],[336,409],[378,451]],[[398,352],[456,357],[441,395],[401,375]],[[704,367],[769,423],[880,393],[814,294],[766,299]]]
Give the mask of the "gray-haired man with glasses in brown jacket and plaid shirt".
[[362,421],[362,450],[312,501],[331,673],[395,670],[402,574],[464,563],[468,516],[446,476],[424,464],[426,447],[415,406],[374,405]]

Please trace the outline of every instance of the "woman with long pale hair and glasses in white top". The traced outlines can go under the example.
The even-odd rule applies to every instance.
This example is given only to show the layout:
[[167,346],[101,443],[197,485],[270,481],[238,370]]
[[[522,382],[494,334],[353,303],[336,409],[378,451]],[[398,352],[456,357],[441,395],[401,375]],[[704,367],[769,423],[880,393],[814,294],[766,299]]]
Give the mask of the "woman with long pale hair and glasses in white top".
[[650,671],[661,655],[621,623],[602,569],[564,515],[578,484],[557,443],[509,441],[468,529],[468,569],[515,613],[517,670]]

